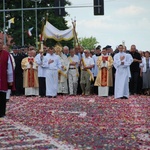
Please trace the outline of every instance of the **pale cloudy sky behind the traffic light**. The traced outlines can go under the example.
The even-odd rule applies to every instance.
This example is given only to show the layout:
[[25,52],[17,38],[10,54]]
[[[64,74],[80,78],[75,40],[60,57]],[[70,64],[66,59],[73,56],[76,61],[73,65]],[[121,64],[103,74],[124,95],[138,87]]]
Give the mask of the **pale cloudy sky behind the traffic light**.
[[[93,0],[69,0],[72,6],[93,6]],[[94,16],[93,7],[66,8],[68,26],[76,19],[78,38],[95,37],[97,45],[113,49],[125,42],[127,49],[150,51],[150,0],[104,0],[104,16]]]

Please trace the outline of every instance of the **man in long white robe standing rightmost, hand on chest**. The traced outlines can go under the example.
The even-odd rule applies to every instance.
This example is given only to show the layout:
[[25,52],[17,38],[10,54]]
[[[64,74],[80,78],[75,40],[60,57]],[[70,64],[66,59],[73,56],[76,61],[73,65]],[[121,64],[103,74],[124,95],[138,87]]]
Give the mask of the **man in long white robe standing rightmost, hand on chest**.
[[124,52],[123,45],[118,46],[119,53],[114,56],[115,74],[115,99],[128,99],[129,98],[129,78],[130,65],[133,58],[130,54]]

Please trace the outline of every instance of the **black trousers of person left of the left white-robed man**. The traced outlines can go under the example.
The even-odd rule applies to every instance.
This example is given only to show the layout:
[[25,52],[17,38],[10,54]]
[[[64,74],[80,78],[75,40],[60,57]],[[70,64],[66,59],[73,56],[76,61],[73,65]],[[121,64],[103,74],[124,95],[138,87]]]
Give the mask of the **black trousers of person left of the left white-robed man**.
[[38,77],[38,80],[39,80],[39,95],[45,96],[46,95],[45,77]]

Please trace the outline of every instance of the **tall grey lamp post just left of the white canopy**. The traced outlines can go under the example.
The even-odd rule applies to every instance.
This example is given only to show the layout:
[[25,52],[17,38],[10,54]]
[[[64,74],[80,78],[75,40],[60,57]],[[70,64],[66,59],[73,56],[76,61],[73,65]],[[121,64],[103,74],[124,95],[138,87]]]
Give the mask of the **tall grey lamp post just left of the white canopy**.
[[36,30],[36,49],[38,49],[38,31],[37,31],[37,2],[41,3],[41,0],[31,0],[35,2],[35,30]]

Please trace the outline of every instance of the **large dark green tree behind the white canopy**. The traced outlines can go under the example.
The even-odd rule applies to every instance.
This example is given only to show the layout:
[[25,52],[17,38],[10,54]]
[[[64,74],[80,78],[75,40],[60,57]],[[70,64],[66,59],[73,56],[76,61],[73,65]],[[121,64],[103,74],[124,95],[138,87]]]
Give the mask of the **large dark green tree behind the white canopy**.
[[[5,9],[17,9],[21,8],[21,1],[23,1],[24,8],[35,8],[35,2],[31,0],[5,0]],[[71,3],[66,0],[66,4],[70,5]],[[42,0],[41,3],[37,3],[37,7],[53,7],[54,0]],[[0,8],[3,9],[3,3],[0,3]],[[67,14],[66,14],[67,15]],[[8,20],[15,17],[15,23],[11,24],[11,28],[8,29],[8,34],[13,37],[13,42],[16,45],[22,45],[22,15],[21,11],[12,11],[6,12],[6,26],[8,26]],[[36,23],[35,23],[35,10],[25,10],[23,13],[24,16],[24,43],[26,45],[36,45]],[[3,12],[0,12],[0,18],[3,18]],[[41,34],[43,20],[48,20],[51,24],[53,24],[56,28],[64,30],[67,29],[67,22],[64,17],[55,16],[54,9],[48,10],[37,10],[37,31],[38,35]],[[3,20],[3,19],[2,19]],[[27,32],[28,29],[34,27],[32,30],[32,36],[29,37]],[[0,29],[3,30],[3,21],[0,22]],[[39,38],[39,36],[38,36]],[[39,39],[38,39],[39,41]],[[52,39],[48,39],[45,44],[47,46],[56,45],[56,41]],[[62,41],[60,44],[62,46],[68,45],[72,46],[72,40],[70,41]]]

